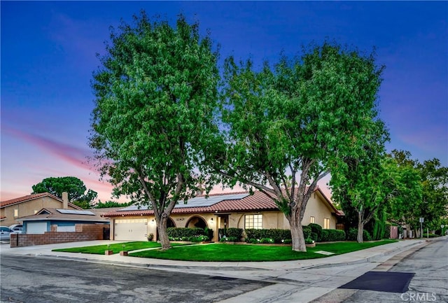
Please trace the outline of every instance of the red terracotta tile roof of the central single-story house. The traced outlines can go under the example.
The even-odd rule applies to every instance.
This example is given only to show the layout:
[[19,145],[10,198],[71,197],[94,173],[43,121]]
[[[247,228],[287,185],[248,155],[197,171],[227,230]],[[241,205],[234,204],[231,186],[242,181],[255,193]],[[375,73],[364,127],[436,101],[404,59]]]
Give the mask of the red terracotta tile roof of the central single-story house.
[[[323,195],[323,192],[316,188],[324,197],[325,202],[330,204],[332,211],[338,214],[335,206],[332,205],[330,200]],[[216,195],[235,195],[238,193],[247,192],[227,192],[209,196]],[[229,199],[223,200],[211,206],[200,206],[200,207],[175,207],[172,214],[182,214],[182,213],[225,213],[230,211],[279,211],[273,199],[267,197],[263,192],[255,191],[253,195],[248,195],[242,199]],[[121,217],[121,216],[152,216],[154,211],[151,209],[139,209],[132,211],[109,211],[104,213],[104,217]]]

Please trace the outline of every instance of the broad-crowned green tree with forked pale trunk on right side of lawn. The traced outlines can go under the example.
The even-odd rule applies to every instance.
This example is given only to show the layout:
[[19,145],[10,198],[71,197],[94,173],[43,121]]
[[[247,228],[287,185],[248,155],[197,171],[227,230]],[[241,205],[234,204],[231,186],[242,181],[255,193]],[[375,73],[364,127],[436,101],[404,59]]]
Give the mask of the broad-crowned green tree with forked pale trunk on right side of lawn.
[[251,60],[225,61],[226,145],[214,159],[231,184],[274,199],[294,251],[306,251],[302,219],[318,181],[357,153],[374,124],[381,69],[373,54],[328,42],[258,71]]

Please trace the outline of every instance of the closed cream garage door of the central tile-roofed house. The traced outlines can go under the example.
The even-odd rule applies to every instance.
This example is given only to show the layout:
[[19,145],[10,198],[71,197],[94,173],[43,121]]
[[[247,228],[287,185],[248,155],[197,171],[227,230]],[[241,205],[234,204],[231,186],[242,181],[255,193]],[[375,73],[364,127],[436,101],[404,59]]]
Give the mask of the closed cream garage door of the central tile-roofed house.
[[118,219],[114,225],[114,239],[148,241],[148,219]]

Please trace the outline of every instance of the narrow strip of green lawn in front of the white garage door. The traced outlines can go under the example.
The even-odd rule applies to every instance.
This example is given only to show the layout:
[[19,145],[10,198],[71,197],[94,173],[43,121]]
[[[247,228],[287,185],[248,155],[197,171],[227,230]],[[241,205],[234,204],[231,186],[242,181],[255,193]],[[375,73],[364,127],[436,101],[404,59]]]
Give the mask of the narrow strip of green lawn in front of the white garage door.
[[[123,245],[125,246],[123,248]],[[176,244],[172,244],[175,246]],[[136,242],[125,242],[118,244],[111,244],[109,249],[113,251],[113,253],[120,253],[120,251],[136,251],[137,249],[143,248],[156,248],[160,247],[160,243],[153,241],[136,241]],[[104,251],[106,251],[107,245],[97,245],[97,246],[84,246],[84,247],[73,247],[73,248],[59,248],[53,249],[52,251],[64,251],[66,253],[93,253],[97,255],[104,255]]]

